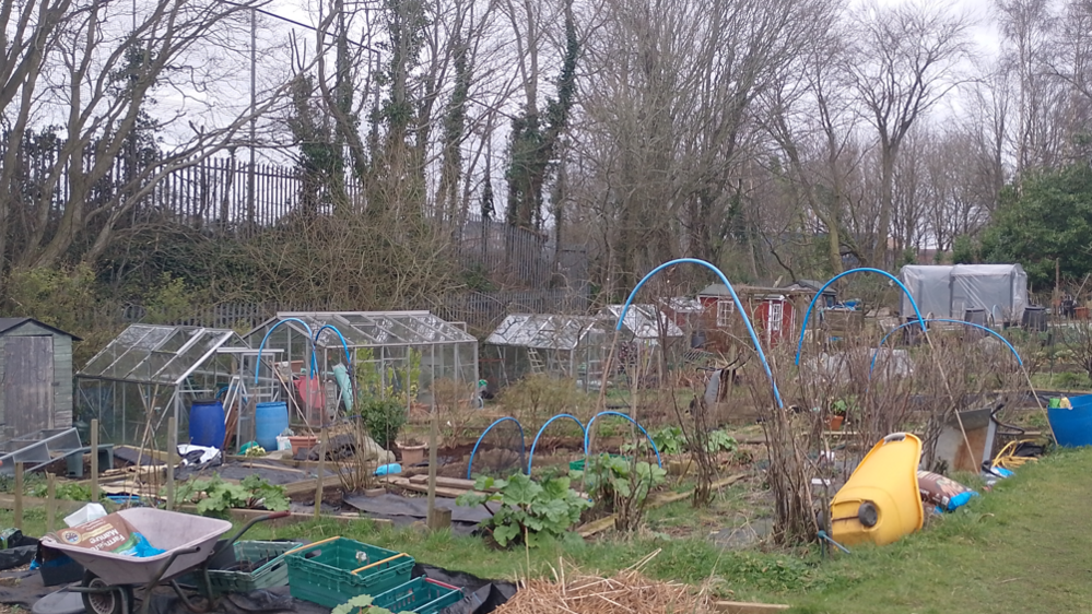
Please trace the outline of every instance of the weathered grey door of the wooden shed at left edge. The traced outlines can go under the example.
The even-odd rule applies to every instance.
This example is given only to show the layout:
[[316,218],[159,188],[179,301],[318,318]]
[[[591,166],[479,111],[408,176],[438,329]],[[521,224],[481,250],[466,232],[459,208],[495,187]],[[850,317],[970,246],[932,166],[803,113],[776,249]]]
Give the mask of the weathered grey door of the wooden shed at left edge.
[[9,336],[3,346],[3,408],[13,437],[49,427],[54,414],[54,340]]

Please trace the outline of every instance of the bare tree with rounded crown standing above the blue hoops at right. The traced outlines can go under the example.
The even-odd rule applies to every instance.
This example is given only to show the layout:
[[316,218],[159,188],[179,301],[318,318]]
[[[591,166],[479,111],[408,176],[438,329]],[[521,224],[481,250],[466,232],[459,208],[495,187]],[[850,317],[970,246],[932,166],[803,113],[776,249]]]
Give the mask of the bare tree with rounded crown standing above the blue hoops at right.
[[895,162],[911,128],[960,83],[970,58],[964,17],[943,5],[869,4],[854,32],[846,70],[879,139],[879,217],[872,258],[888,265]]

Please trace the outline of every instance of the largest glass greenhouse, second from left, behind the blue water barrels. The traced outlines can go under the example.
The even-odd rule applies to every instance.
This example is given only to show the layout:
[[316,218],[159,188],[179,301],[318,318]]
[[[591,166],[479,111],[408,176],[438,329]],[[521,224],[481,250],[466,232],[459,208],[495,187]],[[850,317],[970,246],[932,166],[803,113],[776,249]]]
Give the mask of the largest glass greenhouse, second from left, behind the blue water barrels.
[[[450,394],[469,402],[477,391],[478,340],[428,311],[279,312],[244,339],[283,350],[277,373],[260,375],[293,379],[293,400],[308,423],[320,403],[328,414],[351,409],[354,393],[404,399],[409,406],[431,402],[434,392],[445,397],[437,403]],[[308,392],[308,381],[319,383]]]

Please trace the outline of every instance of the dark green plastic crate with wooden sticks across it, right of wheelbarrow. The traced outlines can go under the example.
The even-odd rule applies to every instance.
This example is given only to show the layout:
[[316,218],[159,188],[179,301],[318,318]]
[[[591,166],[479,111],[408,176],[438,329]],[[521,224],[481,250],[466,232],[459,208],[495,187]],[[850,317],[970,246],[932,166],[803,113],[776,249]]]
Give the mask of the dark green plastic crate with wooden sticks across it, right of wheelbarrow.
[[413,571],[413,557],[345,538],[316,542],[286,558],[292,597],[327,607],[404,585]]

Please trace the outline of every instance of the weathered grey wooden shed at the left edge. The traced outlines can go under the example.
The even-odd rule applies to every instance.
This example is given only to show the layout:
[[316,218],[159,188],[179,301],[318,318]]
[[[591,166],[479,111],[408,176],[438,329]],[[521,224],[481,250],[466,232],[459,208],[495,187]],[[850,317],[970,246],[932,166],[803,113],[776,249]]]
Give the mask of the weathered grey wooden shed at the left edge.
[[2,440],[72,426],[72,342],[33,318],[0,318]]

